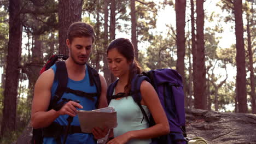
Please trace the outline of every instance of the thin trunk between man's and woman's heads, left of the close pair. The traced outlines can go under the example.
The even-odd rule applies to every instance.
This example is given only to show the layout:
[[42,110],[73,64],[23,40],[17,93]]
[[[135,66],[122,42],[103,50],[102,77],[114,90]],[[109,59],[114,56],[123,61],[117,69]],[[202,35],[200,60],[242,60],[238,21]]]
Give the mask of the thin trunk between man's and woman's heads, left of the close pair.
[[[109,1],[104,1],[104,41],[103,41],[103,47],[104,47],[104,52],[107,52],[107,47],[108,47],[108,5]],[[108,69],[108,61],[107,61],[107,56],[103,55],[103,73],[104,77],[106,79],[107,85],[109,86],[111,83],[111,74],[110,70]]]

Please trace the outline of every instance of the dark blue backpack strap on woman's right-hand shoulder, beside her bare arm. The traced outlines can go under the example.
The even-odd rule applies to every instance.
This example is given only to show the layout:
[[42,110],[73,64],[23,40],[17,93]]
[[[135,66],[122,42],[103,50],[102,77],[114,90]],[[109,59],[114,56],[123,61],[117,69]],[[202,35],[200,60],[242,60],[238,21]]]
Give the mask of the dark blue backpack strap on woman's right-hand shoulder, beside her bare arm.
[[[143,107],[141,105],[141,100],[142,100],[141,83],[144,80],[150,82],[149,78],[144,75],[136,75],[135,77],[133,77],[132,82],[131,82],[131,95],[132,95],[133,100],[135,101],[135,103],[137,103],[137,105],[139,106],[139,109],[141,109],[141,112],[143,113],[142,121],[143,121],[144,117],[146,117],[146,120],[149,123],[149,118],[147,116],[147,113],[145,112],[145,110],[143,109]],[[142,123],[142,121],[141,121],[141,123]]]

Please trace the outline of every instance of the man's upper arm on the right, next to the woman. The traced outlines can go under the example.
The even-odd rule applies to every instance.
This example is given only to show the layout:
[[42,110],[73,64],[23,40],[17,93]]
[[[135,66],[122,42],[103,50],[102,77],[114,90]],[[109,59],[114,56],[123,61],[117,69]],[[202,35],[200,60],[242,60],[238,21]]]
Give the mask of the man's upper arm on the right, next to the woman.
[[101,80],[101,95],[100,95],[100,99],[98,101],[97,109],[108,106],[108,103],[107,103],[107,82],[101,74],[99,74],[99,75],[100,75],[100,80]]

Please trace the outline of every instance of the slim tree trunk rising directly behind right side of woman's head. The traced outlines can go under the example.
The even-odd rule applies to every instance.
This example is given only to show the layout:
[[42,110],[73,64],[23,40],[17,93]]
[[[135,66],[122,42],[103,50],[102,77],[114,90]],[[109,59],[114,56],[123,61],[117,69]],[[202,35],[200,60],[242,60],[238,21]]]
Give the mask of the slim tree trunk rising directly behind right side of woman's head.
[[138,61],[138,41],[137,41],[137,34],[136,34],[136,10],[135,10],[135,1],[131,0],[131,40],[135,50],[135,57]]

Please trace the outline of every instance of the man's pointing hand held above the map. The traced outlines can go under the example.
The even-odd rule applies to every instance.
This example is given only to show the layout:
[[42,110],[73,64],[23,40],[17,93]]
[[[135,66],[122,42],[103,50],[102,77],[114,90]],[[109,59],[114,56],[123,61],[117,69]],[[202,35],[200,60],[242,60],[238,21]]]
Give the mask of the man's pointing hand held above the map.
[[61,109],[59,111],[57,111],[57,113],[59,115],[69,115],[74,117],[75,115],[77,115],[77,109],[75,108],[79,108],[79,109],[83,109],[83,106],[74,102],[74,101],[68,101],[65,105],[63,105],[61,107]]

